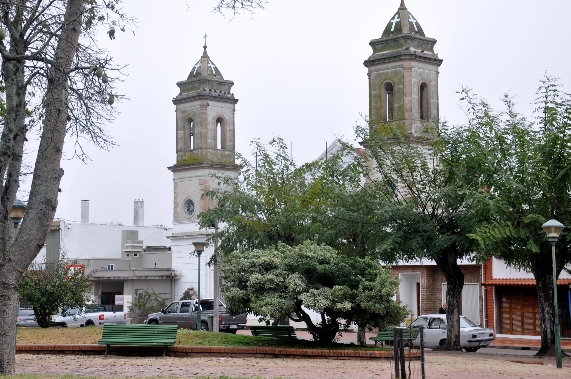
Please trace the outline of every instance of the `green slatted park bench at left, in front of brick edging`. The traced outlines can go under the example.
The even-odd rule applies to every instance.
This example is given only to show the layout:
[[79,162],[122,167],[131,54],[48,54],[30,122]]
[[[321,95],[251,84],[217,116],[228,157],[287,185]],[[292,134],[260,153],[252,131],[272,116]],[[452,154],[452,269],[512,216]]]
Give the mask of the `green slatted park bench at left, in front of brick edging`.
[[107,345],[106,356],[111,345],[146,345],[164,346],[164,357],[167,346],[176,342],[176,329],[176,325],[103,324],[103,336],[97,343]]

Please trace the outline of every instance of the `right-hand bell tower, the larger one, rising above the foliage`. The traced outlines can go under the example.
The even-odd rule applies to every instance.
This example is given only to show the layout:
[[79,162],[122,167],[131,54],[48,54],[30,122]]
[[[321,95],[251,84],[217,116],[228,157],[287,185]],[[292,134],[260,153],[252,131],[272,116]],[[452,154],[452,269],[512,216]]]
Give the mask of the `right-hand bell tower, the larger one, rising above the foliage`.
[[438,122],[438,74],[442,60],[401,0],[381,38],[369,42],[371,57],[364,62],[369,76],[369,120],[379,131],[387,124],[415,136]]

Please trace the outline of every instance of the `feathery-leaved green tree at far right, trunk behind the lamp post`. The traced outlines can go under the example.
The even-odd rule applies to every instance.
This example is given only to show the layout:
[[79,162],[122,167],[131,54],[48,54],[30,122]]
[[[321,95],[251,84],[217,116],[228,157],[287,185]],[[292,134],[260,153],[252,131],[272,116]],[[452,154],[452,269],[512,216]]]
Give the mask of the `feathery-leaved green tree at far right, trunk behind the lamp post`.
[[506,264],[533,272],[541,324],[536,355],[544,356],[554,355],[553,262],[541,228],[545,221],[566,226],[556,244],[557,276],[571,261],[571,96],[553,76],[540,83],[532,120],[516,112],[508,94],[505,109],[494,111],[464,88],[469,123],[463,132],[472,148],[470,170],[502,204],[471,237],[481,260],[501,255]]

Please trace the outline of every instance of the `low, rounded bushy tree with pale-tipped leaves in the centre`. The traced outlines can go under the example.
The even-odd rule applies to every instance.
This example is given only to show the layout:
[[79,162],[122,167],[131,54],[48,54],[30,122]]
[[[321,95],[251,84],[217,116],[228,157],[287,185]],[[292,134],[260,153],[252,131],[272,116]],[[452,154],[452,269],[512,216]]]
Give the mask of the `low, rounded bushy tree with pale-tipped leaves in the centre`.
[[[346,257],[325,245],[279,243],[264,250],[232,252],[222,268],[227,312],[254,313],[305,322],[315,340],[331,342],[338,318],[383,328],[399,324],[406,308],[392,300],[399,279],[369,259]],[[321,315],[313,324],[304,308]],[[268,324],[270,321],[266,321]]]

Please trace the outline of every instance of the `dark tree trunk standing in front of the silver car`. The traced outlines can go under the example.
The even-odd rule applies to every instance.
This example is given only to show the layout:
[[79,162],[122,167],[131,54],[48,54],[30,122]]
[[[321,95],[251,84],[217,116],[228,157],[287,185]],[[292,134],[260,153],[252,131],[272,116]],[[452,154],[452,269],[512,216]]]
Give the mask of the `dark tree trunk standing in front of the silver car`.
[[464,273],[457,263],[455,251],[450,249],[445,255],[435,259],[436,265],[446,279],[446,343],[441,350],[461,351],[460,345],[460,295],[464,288]]

